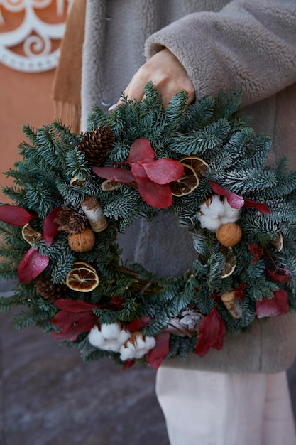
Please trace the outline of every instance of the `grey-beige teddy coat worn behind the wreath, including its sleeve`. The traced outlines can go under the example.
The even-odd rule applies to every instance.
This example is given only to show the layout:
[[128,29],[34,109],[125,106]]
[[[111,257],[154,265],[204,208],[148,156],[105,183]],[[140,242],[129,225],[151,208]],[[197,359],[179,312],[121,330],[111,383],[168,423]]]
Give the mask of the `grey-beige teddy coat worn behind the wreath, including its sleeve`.
[[[82,0],[78,0],[82,1]],[[108,109],[133,73],[162,48],[187,70],[196,97],[241,87],[252,126],[273,137],[271,161],[296,168],[295,0],[88,0],[82,62],[82,129],[92,104]],[[121,236],[124,256],[158,274],[185,271],[194,250],[168,216],[136,222]],[[256,321],[226,335],[221,351],[165,365],[218,372],[280,372],[296,353],[296,315]]]

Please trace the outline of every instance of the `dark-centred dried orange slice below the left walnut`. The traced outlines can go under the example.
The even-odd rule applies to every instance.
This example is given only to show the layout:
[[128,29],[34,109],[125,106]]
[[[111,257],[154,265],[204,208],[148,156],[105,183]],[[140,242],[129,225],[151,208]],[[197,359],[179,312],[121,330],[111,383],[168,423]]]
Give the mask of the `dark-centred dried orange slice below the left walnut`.
[[87,264],[84,267],[83,262],[74,262],[72,269],[67,274],[66,284],[73,291],[91,292],[99,284],[99,277],[92,266]]

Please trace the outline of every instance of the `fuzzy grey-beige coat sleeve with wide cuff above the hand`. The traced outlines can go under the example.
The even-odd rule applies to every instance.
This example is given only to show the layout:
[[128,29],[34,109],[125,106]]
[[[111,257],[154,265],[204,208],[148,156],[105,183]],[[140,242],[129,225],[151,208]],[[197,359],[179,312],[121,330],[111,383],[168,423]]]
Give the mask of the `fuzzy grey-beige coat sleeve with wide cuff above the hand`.
[[296,82],[296,1],[233,0],[197,12],[146,41],[150,58],[168,48],[187,70],[196,96],[242,89],[243,105]]

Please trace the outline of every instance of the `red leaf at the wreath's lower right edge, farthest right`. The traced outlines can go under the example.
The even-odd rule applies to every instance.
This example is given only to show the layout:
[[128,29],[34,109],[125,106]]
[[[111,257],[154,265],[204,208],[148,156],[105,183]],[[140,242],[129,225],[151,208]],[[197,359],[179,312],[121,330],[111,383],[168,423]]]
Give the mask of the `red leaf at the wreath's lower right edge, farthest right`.
[[277,317],[289,311],[287,292],[284,289],[273,292],[273,299],[263,297],[256,302],[256,314],[258,318]]

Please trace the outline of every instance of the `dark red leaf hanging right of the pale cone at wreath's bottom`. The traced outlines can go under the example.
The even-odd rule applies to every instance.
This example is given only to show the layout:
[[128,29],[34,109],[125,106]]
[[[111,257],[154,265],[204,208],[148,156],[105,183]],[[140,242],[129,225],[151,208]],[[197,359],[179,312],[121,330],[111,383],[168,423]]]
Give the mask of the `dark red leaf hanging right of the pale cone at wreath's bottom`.
[[214,309],[207,315],[199,325],[199,334],[197,335],[197,347],[195,352],[199,357],[204,357],[209,348],[221,350],[223,346],[226,328],[219,312]]

